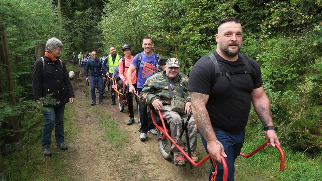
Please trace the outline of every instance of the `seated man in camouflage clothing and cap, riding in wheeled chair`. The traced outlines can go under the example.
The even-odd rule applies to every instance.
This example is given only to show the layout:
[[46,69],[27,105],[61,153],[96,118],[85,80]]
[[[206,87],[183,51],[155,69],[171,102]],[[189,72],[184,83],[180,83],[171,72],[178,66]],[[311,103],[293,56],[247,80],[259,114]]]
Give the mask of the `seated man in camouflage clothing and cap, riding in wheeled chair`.
[[[186,120],[190,113],[190,95],[188,92],[188,77],[179,72],[179,61],[176,58],[169,58],[166,62],[166,70],[159,72],[150,78],[148,78],[144,84],[144,87],[140,93],[140,101],[143,104],[151,105],[156,110],[162,111],[162,116],[168,121],[170,125],[171,137],[177,141],[177,143],[187,152],[186,141],[179,140],[179,136],[182,130],[182,120]],[[167,81],[169,83],[167,83]],[[169,88],[171,87],[171,93]],[[182,98],[182,112],[173,109],[171,100],[173,97]],[[190,141],[190,148],[192,151],[192,159],[198,162],[198,157],[195,153],[197,147],[197,126],[193,116],[191,116],[188,122],[188,134]],[[176,165],[184,165],[185,158],[179,152],[179,150],[173,144],[171,151],[174,154],[174,163]]]

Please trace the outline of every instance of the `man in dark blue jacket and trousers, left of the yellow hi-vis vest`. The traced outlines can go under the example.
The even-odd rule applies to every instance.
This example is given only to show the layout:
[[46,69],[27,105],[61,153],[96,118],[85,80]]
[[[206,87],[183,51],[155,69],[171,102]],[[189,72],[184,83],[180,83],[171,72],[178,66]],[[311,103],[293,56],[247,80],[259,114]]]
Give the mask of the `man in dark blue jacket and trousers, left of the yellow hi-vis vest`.
[[91,58],[85,66],[85,80],[88,81],[89,68],[91,68],[91,97],[94,106],[96,104],[95,88],[99,90],[99,104],[103,103],[103,76],[102,76],[102,60],[97,58],[96,51],[92,51]]

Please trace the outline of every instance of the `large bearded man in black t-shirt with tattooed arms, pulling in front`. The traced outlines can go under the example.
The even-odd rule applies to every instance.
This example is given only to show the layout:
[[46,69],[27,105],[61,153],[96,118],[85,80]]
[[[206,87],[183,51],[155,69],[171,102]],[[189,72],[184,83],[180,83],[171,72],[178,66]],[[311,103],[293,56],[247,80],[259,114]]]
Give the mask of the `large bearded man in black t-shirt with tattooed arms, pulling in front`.
[[223,178],[221,155],[228,165],[228,180],[234,179],[234,163],[243,147],[251,102],[270,141],[268,145],[279,144],[260,67],[255,60],[239,54],[242,35],[238,19],[222,19],[216,34],[217,49],[201,57],[189,76],[194,118],[206,152],[215,160],[209,180]]

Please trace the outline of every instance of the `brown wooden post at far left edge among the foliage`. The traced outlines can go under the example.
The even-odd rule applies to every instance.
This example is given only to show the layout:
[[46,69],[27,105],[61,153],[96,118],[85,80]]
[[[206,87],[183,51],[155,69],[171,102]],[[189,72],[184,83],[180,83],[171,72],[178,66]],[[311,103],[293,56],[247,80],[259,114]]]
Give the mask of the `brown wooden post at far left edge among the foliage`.
[[[9,47],[8,47],[8,40],[7,40],[7,34],[6,34],[6,28],[0,25],[1,28],[1,36],[0,36],[0,57],[5,67],[6,72],[6,80],[7,80],[7,87],[9,92],[9,105],[16,105],[16,98],[13,93],[14,91],[14,82],[12,78],[12,70],[10,65],[10,56],[9,56]],[[13,129],[15,130],[15,142],[19,142],[20,140],[20,134],[19,134],[19,122],[18,117],[13,116],[11,117],[11,123],[13,126]]]

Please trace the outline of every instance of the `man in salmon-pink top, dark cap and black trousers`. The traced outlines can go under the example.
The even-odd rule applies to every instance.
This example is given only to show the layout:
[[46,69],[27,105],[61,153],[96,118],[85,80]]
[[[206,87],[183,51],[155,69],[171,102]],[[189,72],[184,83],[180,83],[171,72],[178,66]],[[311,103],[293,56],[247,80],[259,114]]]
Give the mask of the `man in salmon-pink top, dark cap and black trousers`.
[[[130,45],[125,44],[122,46],[122,51],[124,53],[124,57],[122,59],[119,60],[119,76],[121,78],[121,80],[123,81],[123,85],[128,86],[128,82],[127,82],[127,78],[126,78],[126,73],[127,70],[129,69],[129,66],[131,65],[131,62],[133,60],[133,56],[132,56],[132,50]],[[134,71],[132,73],[132,85],[136,88],[136,71]],[[126,88],[127,89],[127,88]],[[133,111],[133,96],[132,93],[126,93],[125,92],[125,96],[126,96],[126,100],[127,100],[127,108],[128,108],[128,112],[129,112],[129,121],[127,122],[127,125],[131,125],[134,123],[134,111]],[[137,104],[137,99],[135,98],[136,104]]]

